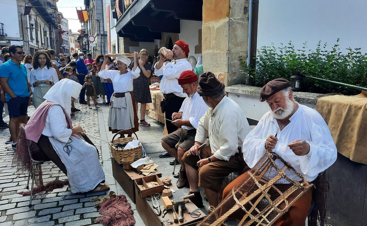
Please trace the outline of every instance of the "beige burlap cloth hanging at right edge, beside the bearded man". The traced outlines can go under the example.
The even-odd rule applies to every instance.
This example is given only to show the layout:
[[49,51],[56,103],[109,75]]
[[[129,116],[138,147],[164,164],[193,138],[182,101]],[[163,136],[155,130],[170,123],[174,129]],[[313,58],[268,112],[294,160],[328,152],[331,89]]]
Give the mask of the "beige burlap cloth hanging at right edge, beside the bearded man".
[[317,100],[338,152],[353,162],[367,164],[367,98],[328,96]]

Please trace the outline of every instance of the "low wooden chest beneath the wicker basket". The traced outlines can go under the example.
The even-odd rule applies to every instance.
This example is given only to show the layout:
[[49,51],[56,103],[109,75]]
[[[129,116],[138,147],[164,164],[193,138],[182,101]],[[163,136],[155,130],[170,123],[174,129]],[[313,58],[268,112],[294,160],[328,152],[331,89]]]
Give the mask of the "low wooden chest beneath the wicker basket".
[[[135,203],[135,179],[142,178],[144,175],[139,174],[134,168],[131,170],[124,170],[122,165],[119,165],[113,158],[112,161],[112,175],[124,189],[127,196]],[[156,171],[154,175],[162,177],[160,171]]]

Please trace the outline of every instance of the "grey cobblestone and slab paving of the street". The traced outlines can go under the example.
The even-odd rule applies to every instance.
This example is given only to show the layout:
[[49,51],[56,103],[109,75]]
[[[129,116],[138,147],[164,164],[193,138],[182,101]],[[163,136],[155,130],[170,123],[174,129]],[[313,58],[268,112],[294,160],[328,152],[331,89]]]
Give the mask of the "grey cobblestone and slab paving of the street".
[[[97,99],[98,100],[98,99]],[[77,108],[81,111],[76,112],[76,116],[72,117],[75,125],[81,125],[88,134],[101,137],[105,140],[112,140],[112,133],[108,131],[108,105],[99,103],[101,108],[98,110],[88,109],[87,105],[80,105],[75,102]],[[34,112],[33,105],[29,107],[29,115]],[[140,118],[140,114],[139,114]],[[8,117],[4,118],[8,122]],[[151,123],[151,126],[140,126],[137,136],[143,143],[143,147],[147,154],[152,157],[155,163],[159,164],[159,170],[162,172],[162,177],[170,177],[175,183],[177,179],[172,176],[173,166],[168,162],[173,158],[158,158],[160,152],[163,152],[161,147],[161,137],[163,133],[163,124],[154,119],[146,117],[146,121]],[[78,193],[72,194],[69,188],[55,189],[52,193],[39,193],[33,197],[32,207],[29,208],[29,196],[22,196],[17,192],[25,191],[28,175],[17,173],[15,168],[11,166],[11,161],[14,151],[10,144],[4,144],[10,137],[8,129],[0,130],[0,226],[8,225],[96,225],[94,219],[99,215],[97,208],[93,207],[90,202],[91,196],[104,196],[106,192],[94,193]],[[90,137],[91,138],[91,137]],[[118,194],[124,194],[124,190],[115,181],[112,176],[111,158],[108,144],[106,142],[91,138],[98,148],[99,157],[103,166],[103,171],[106,175],[105,184],[110,186],[110,190]],[[56,166],[50,166],[50,172],[45,171],[45,177],[66,178]],[[53,170],[52,170],[53,169]],[[179,166],[176,167],[176,173]],[[54,171],[56,170],[56,171]],[[183,193],[188,193],[188,188],[183,189]],[[134,217],[137,226],[144,226],[135,204],[127,196],[134,210]],[[204,201],[205,202],[205,201]],[[204,204],[207,206],[207,203]],[[203,208],[203,211],[207,212]],[[98,224],[97,224],[98,225]]]

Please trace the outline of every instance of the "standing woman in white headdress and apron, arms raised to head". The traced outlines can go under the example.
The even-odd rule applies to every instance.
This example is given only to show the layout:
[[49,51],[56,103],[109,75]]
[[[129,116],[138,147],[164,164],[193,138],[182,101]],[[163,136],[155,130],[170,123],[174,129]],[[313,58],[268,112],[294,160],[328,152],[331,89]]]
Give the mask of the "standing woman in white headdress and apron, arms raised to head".
[[[108,57],[108,55],[104,56],[101,71],[98,73],[99,77],[112,80],[113,90],[115,91],[110,102],[108,129],[112,133],[117,133],[120,130],[137,132],[139,130],[138,110],[132,94],[132,81],[140,75],[140,69],[136,63],[138,52],[134,52],[134,67],[131,71],[127,67],[131,60],[124,55],[120,55],[115,59],[117,70],[104,69]],[[124,134],[131,136],[131,132],[125,132]],[[124,137],[124,135],[121,134],[120,137]]]

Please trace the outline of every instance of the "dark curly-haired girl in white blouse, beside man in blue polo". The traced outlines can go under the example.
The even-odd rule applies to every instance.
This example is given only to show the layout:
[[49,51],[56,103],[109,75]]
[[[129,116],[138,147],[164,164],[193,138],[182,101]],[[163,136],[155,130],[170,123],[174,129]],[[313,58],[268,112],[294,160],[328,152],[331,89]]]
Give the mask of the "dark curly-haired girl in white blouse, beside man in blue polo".
[[32,64],[29,83],[34,87],[33,105],[37,108],[45,100],[43,96],[59,79],[50,58],[43,51],[37,51],[34,54]]

